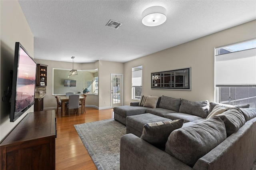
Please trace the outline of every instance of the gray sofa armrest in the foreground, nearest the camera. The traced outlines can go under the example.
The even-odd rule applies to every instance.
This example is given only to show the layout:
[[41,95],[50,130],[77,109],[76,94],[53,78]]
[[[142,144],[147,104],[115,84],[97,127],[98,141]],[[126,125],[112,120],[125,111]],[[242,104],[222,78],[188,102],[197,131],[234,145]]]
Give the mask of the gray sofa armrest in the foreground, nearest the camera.
[[120,170],[192,170],[170,154],[134,134],[125,134],[120,143]]

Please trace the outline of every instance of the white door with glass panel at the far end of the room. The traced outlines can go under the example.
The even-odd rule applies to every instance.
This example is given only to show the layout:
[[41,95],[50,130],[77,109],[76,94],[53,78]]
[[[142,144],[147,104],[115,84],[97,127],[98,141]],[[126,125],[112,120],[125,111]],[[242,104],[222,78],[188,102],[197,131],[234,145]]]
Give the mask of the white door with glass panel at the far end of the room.
[[111,108],[123,105],[123,75],[111,74]]

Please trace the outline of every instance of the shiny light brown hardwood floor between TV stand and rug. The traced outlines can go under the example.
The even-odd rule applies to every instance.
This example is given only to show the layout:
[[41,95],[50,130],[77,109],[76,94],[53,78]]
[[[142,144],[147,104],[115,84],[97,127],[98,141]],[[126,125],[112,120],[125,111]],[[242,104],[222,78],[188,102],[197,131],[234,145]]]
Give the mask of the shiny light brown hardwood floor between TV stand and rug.
[[79,138],[74,125],[111,119],[113,109],[97,110],[86,107],[86,113],[62,117],[56,116],[56,170],[96,170],[90,155]]

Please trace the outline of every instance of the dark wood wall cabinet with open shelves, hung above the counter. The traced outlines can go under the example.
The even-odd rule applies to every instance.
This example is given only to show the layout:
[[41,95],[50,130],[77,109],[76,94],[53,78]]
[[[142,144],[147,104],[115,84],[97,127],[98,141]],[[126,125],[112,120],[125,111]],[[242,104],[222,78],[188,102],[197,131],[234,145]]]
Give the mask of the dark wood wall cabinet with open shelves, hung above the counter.
[[37,64],[36,86],[47,86],[48,65]]

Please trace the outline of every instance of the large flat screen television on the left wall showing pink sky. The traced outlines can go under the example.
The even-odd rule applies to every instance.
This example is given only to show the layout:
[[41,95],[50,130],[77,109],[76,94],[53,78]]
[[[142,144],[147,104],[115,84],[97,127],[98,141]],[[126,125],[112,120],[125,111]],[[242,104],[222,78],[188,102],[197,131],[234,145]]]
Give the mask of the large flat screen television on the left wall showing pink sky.
[[35,103],[36,62],[26,49],[15,43],[10,122],[16,121]]

